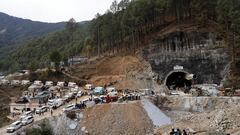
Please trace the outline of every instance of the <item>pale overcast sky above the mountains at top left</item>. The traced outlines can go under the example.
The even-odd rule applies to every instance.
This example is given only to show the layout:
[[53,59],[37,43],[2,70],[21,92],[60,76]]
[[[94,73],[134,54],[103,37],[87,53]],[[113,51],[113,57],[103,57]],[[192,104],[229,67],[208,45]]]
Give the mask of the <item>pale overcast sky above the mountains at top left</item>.
[[103,14],[113,0],[0,0],[0,12],[42,22],[91,20]]

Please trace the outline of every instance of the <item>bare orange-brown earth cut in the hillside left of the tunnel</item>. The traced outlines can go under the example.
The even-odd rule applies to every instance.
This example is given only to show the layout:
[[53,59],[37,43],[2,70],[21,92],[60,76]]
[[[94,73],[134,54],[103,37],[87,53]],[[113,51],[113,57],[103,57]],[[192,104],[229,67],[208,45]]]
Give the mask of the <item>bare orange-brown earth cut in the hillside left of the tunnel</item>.
[[130,55],[89,60],[70,67],[68,73],[96,86],[112,85],[117,89],[144,89],[152,84],[150,65]]

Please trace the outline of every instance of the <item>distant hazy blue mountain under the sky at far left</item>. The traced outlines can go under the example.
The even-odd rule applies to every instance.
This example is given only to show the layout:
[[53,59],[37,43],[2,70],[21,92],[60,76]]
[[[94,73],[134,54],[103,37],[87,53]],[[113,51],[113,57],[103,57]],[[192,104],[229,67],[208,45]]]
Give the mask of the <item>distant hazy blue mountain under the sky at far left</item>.
[[60,30],[64,25],[64,22],[43,23],[0,12],[0,47],[20,44],[20,42]]

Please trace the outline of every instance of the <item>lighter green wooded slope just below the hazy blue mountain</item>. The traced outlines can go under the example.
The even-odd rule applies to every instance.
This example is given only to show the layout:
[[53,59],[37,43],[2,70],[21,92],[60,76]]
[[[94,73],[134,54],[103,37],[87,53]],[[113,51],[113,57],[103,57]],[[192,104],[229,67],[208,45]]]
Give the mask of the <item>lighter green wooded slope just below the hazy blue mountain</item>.
[[[48,67],[50,65],[50,54],[53,51],[59,52],[61,59],[67,61],[66,59],[70,55],[75,55],[81,50],[81,45],[84,43],[82,39],[86,37],[85,33],[82,32],[86,30],[82,29],[86,29],[85,24],[80,24],[73,34],[64,29],[27,42],[13,51],[6,59],[0,60],[1,70],[13,72],[28,68],[30,65],[35,65],[38,68]],[[34,69],[36,68],[34,67]]]

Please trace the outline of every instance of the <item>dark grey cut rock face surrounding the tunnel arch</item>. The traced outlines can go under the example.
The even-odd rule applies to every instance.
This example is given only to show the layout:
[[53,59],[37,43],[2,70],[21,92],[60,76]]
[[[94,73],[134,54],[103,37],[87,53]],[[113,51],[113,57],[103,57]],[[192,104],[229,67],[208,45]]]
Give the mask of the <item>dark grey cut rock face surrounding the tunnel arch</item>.
[[157,37],[143,50],[143,57],[164,83],[176,65],[196,74],[195,83],[219,84],[224,78],[228,57],[224,41],[213,33],[175,32]]

